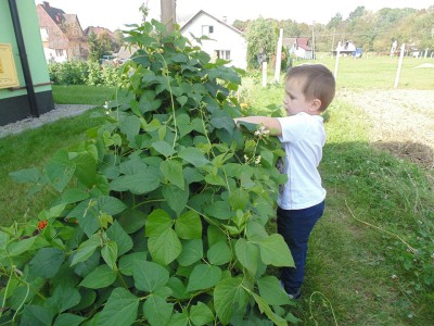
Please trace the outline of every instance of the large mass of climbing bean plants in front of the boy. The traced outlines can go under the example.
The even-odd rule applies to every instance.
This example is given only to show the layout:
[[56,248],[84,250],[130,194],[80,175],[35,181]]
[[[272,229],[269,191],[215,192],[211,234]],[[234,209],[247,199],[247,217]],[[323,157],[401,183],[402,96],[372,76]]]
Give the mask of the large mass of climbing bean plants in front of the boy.
[[[156,38],[150,37],[155,28]],[[12,174],[58,197],[0,230],[0,321],[78,325],[285,325],[268,266],[291,266],[269,235],[278,140],[244,134],[241,79],[156,21],[129,34],[127,87],[107,122],[42,171]]]

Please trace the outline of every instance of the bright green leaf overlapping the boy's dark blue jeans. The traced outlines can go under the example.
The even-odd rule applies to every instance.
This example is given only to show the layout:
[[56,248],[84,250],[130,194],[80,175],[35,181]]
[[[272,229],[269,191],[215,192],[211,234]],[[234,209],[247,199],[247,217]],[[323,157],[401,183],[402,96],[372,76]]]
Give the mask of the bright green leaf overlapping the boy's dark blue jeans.
[[258,241],[260,259],[266,265],[294,267],[294,260],[283,237],[273,234]]

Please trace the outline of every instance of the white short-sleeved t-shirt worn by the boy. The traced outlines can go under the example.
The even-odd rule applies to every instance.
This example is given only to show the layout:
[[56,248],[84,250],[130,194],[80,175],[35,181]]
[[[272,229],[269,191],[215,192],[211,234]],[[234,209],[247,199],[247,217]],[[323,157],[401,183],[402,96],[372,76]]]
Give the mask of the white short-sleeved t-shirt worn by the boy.
[[326,198],[318,172],[326,143],[323,118],[301,112],[278,120],[282,127],[279,139],[286,153],[282,173],[288,175],[278,205],[283,210],[302,210],[319,204]]

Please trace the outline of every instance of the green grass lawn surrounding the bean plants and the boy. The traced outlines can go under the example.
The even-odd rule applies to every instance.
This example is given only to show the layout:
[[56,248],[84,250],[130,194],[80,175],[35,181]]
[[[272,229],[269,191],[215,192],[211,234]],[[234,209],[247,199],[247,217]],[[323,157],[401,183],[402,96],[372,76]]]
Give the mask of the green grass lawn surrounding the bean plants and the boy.
[[[321,61],[334,70],[331,59]],[[434,89],[433,70],[414,68],[424,62],[433,60],[406,59],[399,87]],[[390,58],[342,58],[337,86],[360,91],[393,88],[396,64],[397,59]],[[271,113],[281,105],[283,89],[258,84],[246,79],[246,113]],[[54,87],[54,98],[99,101],[93,104],[106,100],[106,92],[98,96],[93,88],[71,89],[73,95],[69,87]],[[101,123],[90,114],[0,139],[0,154],[8,158],[0,164],[0,225],[24,221],[26,212],[37,214],[50,200],[50,193],[26,199],[26,187],[8,174],[42,166],[59,148],[84,139],[87,128]],[[434,289],[426,284],[433,275],[433,261],[426,260],[432,252],[423,251],[433,248],[432,178],[417,165],[371,147],[360,115],[339,98],[328,110],[320,165],[327,209],[312,233],[304,296],[292,313],[302,325],[434,325]],[[403,240],[419,254],[409,252]]]

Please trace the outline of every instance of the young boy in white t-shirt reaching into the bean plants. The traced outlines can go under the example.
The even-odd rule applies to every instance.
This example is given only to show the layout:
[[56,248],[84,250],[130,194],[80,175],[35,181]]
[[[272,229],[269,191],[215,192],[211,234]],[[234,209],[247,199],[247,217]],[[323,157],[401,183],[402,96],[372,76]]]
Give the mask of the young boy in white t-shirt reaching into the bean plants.
[[279,137],[286,153],[282,173],[288,181],[279,191],[277,225],[294,259],[295,268],[281,268],[281,283],[292,299],[302,294],[307,242],[324,210],[326,189],[318,165],[326,142],[323,118],[335,92],[332,73],[321,64],[292,67],[285,76],[283,105],[288,116],[246,116],[238,122],[261,124]]

